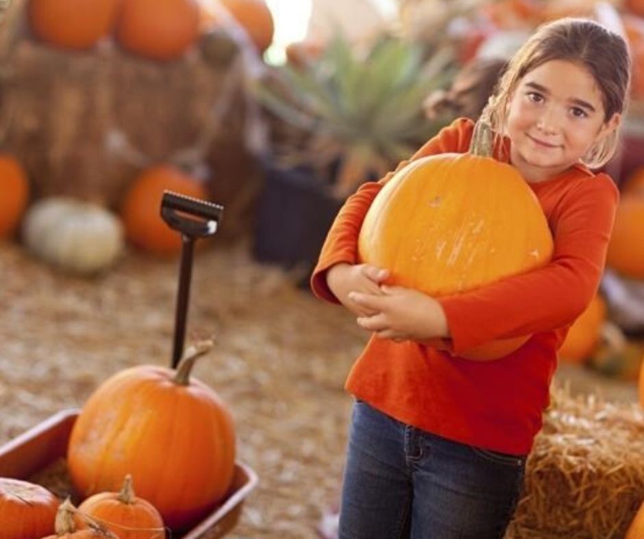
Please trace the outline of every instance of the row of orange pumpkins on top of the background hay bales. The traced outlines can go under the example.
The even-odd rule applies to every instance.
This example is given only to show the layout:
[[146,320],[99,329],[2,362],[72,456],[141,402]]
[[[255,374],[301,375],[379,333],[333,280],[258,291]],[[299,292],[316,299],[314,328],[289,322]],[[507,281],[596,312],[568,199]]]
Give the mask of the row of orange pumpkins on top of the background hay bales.
[[273,41],[273,18],[264,0],[29,0],[27,8],[35,36],[64,49],[91,49],[114,36],[136,55],[173,60],[200,34],[231,19],[258,53]]

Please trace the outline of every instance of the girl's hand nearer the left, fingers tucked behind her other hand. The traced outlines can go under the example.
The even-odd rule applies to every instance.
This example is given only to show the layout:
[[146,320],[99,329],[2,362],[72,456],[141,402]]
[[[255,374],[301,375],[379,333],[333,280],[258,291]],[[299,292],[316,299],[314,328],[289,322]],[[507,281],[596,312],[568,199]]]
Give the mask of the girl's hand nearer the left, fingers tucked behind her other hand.
[[327,285],[336,298],[345,307],[358,316],[374,315],[367,307],[358,305],[349,299],[349,292],[358,291],[371,295],[380,295],[380,284],[389,277],[386,269],[375,267],[369,264],[347,264],[339,263],[327,271]]

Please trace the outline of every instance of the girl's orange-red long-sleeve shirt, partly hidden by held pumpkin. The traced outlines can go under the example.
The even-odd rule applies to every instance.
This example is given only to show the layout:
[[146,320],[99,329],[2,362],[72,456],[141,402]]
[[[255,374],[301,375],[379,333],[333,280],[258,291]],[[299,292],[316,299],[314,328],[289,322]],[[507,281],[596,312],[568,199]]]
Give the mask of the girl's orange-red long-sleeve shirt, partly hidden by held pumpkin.
[[[411,159],[464,153],[472,131],[471,120],[456,120]],[[497,145],[497,159],[508,155],[509,144],[506,140],[504,148]],[[358,263],[362,220],[392,175],[365,183],[340,209],[311,279],[319,298],[338,302],[327,286],[327,269],[340,262]],[[530,452],[549,403],[556,350],[597,291],[619,196],[606,174],[593,174],[581,164],[528,185],[552,231],[552,260],[532,272],[438,298],[447,317],[452,354],[372,336],[349,373],[347,391],[438,436],[504,453]],[[498,360],[458,356],[486,341],[526,334],[532,335],[527,343]]]

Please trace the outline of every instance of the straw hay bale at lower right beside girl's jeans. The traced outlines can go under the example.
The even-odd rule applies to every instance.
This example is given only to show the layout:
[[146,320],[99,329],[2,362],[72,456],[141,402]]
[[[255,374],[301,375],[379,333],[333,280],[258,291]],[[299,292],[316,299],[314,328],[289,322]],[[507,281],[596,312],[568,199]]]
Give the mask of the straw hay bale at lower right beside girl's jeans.
[[506,538],[623,538],[644,499],[644,413],[556,389]]

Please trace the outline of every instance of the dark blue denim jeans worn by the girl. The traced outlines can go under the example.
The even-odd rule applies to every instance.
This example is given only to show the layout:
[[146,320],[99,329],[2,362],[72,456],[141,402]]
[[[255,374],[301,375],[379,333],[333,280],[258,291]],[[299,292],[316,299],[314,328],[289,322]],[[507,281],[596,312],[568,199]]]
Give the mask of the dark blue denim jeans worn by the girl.
[[354,404],[340,539],[502,538],[525,457],[452,442]]

